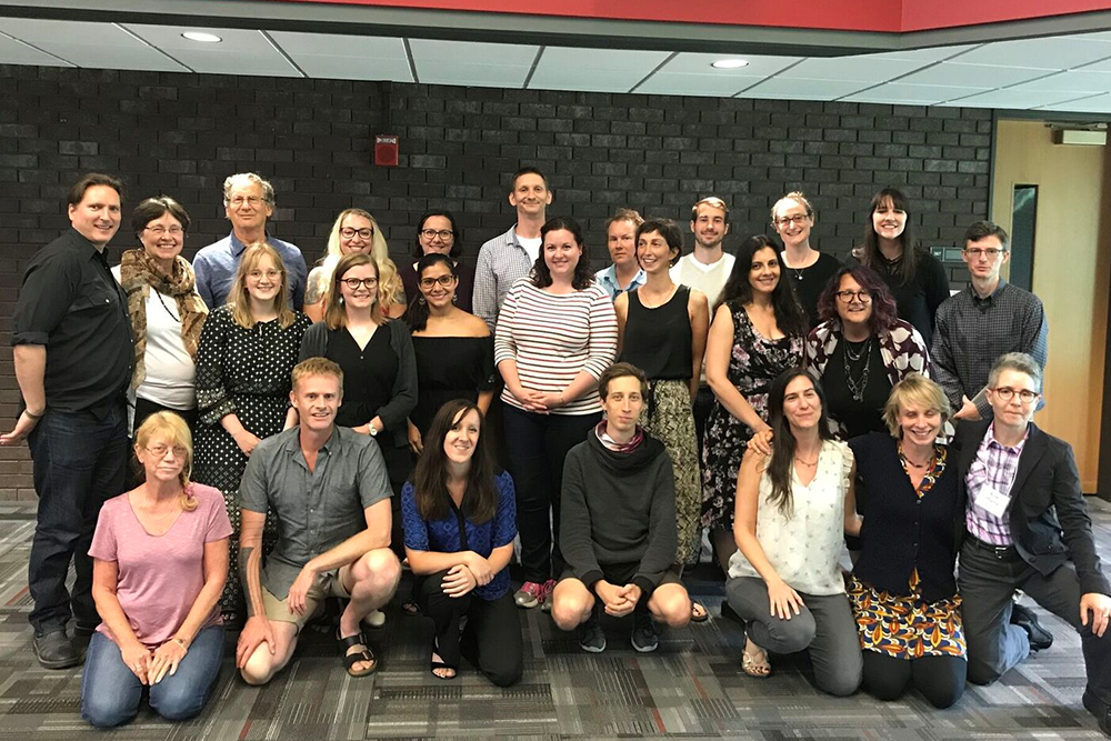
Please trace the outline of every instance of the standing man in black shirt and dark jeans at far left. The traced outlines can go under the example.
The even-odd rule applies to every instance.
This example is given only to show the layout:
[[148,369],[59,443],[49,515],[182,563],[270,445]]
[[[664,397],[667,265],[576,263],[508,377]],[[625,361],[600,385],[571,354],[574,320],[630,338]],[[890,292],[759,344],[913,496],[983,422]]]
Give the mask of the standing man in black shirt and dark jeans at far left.
[[123,490],[134,343],[127,299],[104,259],[120,227],[121,193],[119,180],[99,173],[73,186],[72,229],[31,259],[12,319],[23,411],[0,444],[26,438],[31,449],[39,512],[28,564],[30,621],[47,669],[81,662],[66,633],[71,617],[86,640],[100,623],[89,547],[101,504]]

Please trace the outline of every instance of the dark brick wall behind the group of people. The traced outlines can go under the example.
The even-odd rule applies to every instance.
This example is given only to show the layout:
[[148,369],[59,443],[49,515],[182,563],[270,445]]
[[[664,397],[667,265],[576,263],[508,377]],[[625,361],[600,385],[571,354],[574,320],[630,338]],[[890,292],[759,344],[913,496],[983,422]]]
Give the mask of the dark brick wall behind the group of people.
[[[401,137],[400,167],[373,167],[376,133]],[[849,250],[887,184],[913,199],[928,246],[957,244],[988,213],[991,137],[992,112],[975,109],[0,66],[0,427],[18,403],[8,336],[20,277],[68,226],[66,191],[88,170],[124,178],[126,212],[177,198],[193,219],[187,257],[228,232],[224,177],[253,170],[278,191],[273,233],[310,260],[351,206],[376,216],[396,254],[422,211],[451,209],[473,259],[511,223],[507,176],[534,164],[556,191],[550,213],[582,222],[601,267],[618,207],[685,220],[718,194],[735,243],[798,188],[825,251]],[[131,243],[124,227],[110,260]],[[33,498],[29,471],[26,448],[0,450],[0,500]]]

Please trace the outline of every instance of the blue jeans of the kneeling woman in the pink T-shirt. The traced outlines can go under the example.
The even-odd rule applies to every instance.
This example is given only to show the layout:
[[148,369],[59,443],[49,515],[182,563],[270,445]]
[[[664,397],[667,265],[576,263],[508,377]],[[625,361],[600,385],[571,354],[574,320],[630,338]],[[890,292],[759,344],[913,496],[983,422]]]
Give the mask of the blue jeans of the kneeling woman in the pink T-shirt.
[[[167,720],[186,720],[204,708],[223,660],[223,625],[210,625],[193,639],[173,677],[150,688],[150,707]],[[97,728],[126,723],[139,712],[143,684],[131,673],[118,647],[93,633],[81,678],[81,718]]]

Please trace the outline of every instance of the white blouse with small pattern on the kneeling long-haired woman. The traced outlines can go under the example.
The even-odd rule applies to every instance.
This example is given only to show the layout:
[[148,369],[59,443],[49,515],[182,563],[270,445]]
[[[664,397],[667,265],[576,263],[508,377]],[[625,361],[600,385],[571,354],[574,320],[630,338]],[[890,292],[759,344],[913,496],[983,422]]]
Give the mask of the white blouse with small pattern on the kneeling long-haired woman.
[[[827,440],[818,454],[818,471],[809,484],[792,469],[793,507],[784,513],[770,501],[771,477],[760,477],[757,539],[775,573],[804,594],[844,593],[840,560],[844,545],[844,497],[852,471],[849,445]],[[729,575],[760,577],[737,551],[729,559]]]

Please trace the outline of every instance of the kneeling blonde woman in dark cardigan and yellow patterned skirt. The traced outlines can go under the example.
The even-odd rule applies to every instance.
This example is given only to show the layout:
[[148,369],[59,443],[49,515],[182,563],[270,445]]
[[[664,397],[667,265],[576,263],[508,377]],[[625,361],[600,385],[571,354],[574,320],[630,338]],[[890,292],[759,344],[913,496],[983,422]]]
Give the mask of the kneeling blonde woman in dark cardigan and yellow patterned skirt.
[[911,373],[891,390],[889,432],[849,441],[858,485],[862,550],[849,599],[864,654],[864,689],[881,700],[913,684],[937,708],[961,698],[968,671],[953,570],[964,521],[957,454],[938,441],[949,401]]

